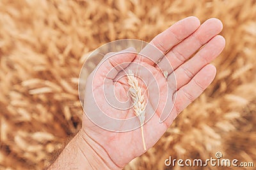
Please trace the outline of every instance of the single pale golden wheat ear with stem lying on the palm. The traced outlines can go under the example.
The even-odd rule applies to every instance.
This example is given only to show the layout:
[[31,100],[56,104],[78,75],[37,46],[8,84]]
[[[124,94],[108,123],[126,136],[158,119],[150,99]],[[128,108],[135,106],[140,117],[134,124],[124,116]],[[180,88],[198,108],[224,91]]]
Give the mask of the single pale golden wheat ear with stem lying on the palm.
[[141,87],[139,85],[138,78],[134,76],[134,74],[130,69],[128,70],[127,77],[128,77],[128,84],[129,84],[129,92],[131,94],[132,101],[134,104],[133,110],[135,115],[140,120],[143,148],[144,150],[146,150],[144,132],[143,132],[143,124],[145,122],[145,107],[146,107],[145,98],[142,93]]

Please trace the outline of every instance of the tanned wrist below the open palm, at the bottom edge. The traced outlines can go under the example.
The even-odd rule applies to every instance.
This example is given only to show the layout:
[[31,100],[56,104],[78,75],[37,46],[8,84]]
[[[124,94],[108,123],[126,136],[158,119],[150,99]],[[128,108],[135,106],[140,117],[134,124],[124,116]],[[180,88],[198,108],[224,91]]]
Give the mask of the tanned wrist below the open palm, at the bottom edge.
[[121,169],[81,130],[68,143],[49,169]]

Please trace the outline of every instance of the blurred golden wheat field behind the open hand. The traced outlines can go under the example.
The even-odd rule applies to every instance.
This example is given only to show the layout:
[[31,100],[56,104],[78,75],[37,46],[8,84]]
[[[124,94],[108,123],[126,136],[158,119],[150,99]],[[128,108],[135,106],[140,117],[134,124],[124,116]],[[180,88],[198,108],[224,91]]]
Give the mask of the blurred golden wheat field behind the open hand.
[[1,0],[0,169],[43,169],[76,134],[77,81],[88,53],[116,39],[150,41],[190,15],[223,22],[216,79],[125,169],[168,169],[170,155],[209,159],[217,151],[256,164],[256,1]]

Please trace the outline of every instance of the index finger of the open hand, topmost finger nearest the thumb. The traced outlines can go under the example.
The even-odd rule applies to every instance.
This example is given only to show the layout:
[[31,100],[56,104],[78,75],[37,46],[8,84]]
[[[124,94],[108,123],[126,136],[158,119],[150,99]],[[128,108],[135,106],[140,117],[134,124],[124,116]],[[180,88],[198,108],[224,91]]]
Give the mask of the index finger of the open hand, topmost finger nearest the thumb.
[[[142,59],[139,60],[154,65],[166,52],[195,32],[199,26],[200,21],[196,17],[187,17],[176,22],[171,27],[158,34],[141,50],[140,53],[146,57],[142,57]],[[140,57],[140,55],[138,57]]]

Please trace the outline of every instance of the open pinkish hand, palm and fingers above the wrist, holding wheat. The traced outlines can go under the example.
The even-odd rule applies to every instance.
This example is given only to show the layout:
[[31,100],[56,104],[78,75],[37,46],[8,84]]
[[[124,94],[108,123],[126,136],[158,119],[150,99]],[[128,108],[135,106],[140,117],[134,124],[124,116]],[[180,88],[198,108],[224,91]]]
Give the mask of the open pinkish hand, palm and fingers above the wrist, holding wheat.
[[[209,62],[225,46],[225,39],[217,35],[221,29],[222,24],[216,18],[200,25],[198,18],[188,17],[149,43],[148,46],[154,46],[157,51],[146,46],[140,55],[134,48],[127,48],[104,57],[104,62],[102,60],[86,81],[84,111],[87,116],[83,117],[82,128],[86,141],[92,141],[106,152],[99,153],[102,159],[108,156],[116,167],[124,167],[145,152],[140,121],[134,117],[129,97],[125,76],[128,71],[138,76],[147,101],[143,132],[148,149],[214,79],[216,68]],[[163,53],[165,55],[161,55]]]

